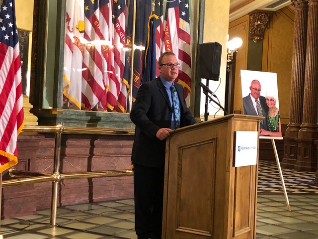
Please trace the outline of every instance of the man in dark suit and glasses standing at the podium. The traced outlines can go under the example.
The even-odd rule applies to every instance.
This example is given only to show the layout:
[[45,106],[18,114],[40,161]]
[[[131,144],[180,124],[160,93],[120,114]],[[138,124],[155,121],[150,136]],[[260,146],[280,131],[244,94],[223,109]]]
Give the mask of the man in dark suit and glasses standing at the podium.
[[131,159],[138,239],[161,239],[165,139],[172,130],[196,122],[182,86],[174,82],[179,66],[174,53],[163,53],[159,78],[141,85],[130,114],[136,124]]

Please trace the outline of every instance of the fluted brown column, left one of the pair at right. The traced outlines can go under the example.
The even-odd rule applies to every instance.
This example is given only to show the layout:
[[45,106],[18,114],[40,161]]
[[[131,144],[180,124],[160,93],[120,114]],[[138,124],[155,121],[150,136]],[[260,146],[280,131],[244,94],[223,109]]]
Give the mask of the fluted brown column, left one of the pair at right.
[[308,0],[292,0],[295,6],[294,46],[290,94],[289,123],[284,135],[284,158],[282,167],[294,168],[297,159],[298,131],[303,120],[303,100],[306,68],[306,44]]

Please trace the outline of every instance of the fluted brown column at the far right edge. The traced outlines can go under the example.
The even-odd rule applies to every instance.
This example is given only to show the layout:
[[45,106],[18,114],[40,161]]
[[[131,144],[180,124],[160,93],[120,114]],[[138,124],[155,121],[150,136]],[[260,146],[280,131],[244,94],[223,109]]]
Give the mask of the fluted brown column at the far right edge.
[[318,139],[318,0],[308,0],[308,29],[303,123],[298,132],[296,170],[316,171]]

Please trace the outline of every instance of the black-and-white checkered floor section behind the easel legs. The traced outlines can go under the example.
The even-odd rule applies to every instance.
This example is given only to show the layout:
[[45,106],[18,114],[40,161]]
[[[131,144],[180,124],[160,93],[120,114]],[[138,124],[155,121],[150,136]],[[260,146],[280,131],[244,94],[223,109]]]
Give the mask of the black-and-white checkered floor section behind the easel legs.
[[[287,193],[318,194],[315,172],[282,168]],[[258,162],[258,193],[283,193],[276,161]]]

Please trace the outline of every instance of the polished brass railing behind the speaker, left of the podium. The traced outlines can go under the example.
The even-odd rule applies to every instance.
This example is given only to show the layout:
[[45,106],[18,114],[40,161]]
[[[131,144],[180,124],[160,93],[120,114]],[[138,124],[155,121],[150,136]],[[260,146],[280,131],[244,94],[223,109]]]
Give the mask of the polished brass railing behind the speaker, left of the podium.
[[51,198],[51,216],[50,225],[56,225],[57,207],[58,207],[58,183],[64,179],[75,178],[96,178],[96,177],[116,177],[116,176],[131,176],[133,171],[114,170],[114,171],[95,171],[95,172],[75,172],[75,173],[60,173],[61,160],[61,137],[62,133],[76,134],[110,134],[110,135],[133,135],[133,130],[122,129],[105,129],[105,128],[82,128],[69,127],[58,124],[56,126],[25,126],[22,133],[55,133],[54,144],[54,165],[53,173],[37,173],[28,171],[19,171],[14,167],[10,168],[10,176],[26,176],[27,178],[9,179],[2,181],[2,187],[17,186],[22,184],[32,184],[41,182],[52,182],[52,198]]

